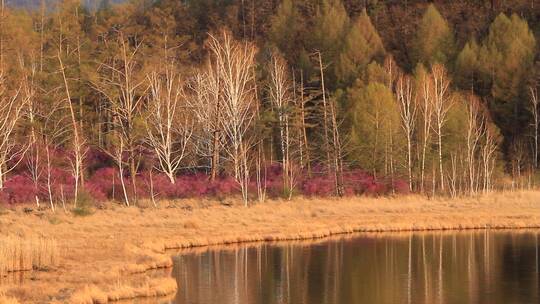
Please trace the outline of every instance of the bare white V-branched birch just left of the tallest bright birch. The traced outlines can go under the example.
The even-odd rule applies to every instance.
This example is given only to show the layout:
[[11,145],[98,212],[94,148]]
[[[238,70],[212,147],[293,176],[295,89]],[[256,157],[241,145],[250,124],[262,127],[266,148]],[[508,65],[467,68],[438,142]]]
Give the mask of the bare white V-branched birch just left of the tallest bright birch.
[[147,142],[157,156],[159,171],[174,184],[176,172],[187,154],[193,134],[191,113],[188,112],[183,85],[174,67],[167,67],[163,74],[150,73],[148,82]]

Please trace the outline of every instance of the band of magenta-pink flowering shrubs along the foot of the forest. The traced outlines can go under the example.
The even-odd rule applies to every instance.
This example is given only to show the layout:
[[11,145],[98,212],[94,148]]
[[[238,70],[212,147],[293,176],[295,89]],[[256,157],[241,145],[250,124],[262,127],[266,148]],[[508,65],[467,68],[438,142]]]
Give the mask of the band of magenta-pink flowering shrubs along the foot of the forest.
[[[49,200],[49,188],[47,175],[50,173],[51,195],[54,200],[72,200],[75,189],[75,179],[70,171],[71,154],[62,149],[50,149],[52,169],[48,170],[44,160],[39,164],[41,172],[37,185],[28,174],[28,160],[21,161],[12,175],[5,181],[4,189],[0,191],[0,202],[8,204],[28,203],[35,200],[36,195],[41,201]],[[29,154],[30,155],[30,154]],[[31,157],[25,156],[25,157]],[[148,168],[151,159],[143,162],[140,172],[136,176],[137,196],[139,198],[176,199],[213,197],[224,198],[231,195],[239,195],[240,187],[231,176],[220,176],[215,181],[210,181],[207,174],[194,172],[178,175],[174,183],[163,173],[153,172],[150,175]],[[113,160],[99,150],[90,150],[85,160],[86,174],[84,188],[80,188],[97,203],[116,200],[123,201],[124,193],[118,168]],[[305,170],[294,168],[294,189],[287,189],[283,184],[283,170],[281,165],[273,163],[268,165],[262,173],[263,186],[270,198],[288,196],[289,191],[293,194],[306,196],[327,197],[335,195],[334,177],[324,173],[323,167],[313,166],[312,176],[308,177]],[[124,185],[128,196],[133,197],[133,178],[127,170],[124,175]],[[408,184],[403,180],[395,180],[393,184],[387,180],[376,180],[365,171],[354,169],[343,174],[344,195],[384,195],[388,193],[408,193]],[[249,183],[250,195],[257,193],[256,176],[251,177]],[[81,192],[82,193],[82,192]]]

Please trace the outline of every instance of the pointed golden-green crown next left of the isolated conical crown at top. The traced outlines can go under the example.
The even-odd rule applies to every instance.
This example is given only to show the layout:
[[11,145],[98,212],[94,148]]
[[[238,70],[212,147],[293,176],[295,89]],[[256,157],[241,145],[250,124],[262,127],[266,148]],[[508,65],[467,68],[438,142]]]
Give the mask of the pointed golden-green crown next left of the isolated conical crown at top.
[[384,53],[381,37],[364,10],[345,37],[343,52],[336,65],[338,80],[351,84],[370,62],[382,61]]

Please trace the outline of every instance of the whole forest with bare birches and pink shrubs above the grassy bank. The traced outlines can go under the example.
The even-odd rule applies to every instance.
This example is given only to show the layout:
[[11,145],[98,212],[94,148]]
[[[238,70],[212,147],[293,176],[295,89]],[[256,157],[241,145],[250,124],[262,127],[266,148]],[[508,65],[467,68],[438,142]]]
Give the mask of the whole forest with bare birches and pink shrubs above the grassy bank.
[[4,202],[537,182],[537,1],[31,6],[0,12]]

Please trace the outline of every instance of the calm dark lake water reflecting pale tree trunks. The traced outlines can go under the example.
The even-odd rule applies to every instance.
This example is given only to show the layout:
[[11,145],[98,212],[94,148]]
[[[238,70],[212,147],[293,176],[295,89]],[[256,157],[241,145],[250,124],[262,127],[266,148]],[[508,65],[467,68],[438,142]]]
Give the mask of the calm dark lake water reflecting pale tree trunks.
[[539,231],[367,234],[175,257],[176,304],[540,303]]

